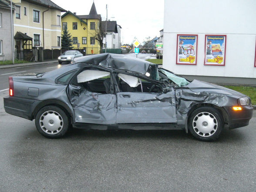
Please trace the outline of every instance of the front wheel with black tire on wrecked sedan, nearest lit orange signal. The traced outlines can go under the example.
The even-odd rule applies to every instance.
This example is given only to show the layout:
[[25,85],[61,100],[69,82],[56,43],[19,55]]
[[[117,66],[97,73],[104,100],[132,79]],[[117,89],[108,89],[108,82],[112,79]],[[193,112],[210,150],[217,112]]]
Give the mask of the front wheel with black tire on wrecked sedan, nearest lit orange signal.
[[215,141],[223,129],[222,115],[212,107],[197,108],[189,117],[188,128],[200,141]]

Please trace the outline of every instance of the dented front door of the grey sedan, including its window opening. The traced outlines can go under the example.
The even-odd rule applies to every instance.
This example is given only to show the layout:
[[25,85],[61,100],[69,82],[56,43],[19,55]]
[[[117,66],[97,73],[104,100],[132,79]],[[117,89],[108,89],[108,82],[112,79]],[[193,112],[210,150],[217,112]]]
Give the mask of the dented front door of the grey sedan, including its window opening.
[[117,123],[176,123],[175,91],[164,93],[152,82],[118,74]]

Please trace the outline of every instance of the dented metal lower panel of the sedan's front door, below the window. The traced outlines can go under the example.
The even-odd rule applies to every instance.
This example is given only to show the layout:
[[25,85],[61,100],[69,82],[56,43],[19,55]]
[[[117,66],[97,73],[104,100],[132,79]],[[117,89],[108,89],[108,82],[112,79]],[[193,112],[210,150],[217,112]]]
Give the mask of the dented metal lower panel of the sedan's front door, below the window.
[[[122,94],[130,97],[121,98]],[[118,123],[175,123],[174,91],[162,94],[118,93]]]

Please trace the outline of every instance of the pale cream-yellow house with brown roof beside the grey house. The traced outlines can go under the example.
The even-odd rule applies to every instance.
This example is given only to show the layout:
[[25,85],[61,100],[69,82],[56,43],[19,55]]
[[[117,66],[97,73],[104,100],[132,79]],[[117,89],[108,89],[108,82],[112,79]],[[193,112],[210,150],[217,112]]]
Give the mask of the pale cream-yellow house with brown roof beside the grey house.
[[18,2],[15,3],[14,13],[15,48],[22,50],[31,49],[33,46],[60,49],[61,12],[66,10],[51,0],[18,0]]

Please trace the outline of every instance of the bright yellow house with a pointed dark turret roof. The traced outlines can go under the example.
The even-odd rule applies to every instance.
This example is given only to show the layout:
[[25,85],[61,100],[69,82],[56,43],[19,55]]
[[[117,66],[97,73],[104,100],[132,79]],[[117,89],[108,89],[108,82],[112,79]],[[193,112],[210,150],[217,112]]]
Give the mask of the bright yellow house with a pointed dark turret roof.
[[67,29],[71,34],[74,49],[82,49],[86,54],[100,54],[101,47],[95,39],[100,20],[101,15],[92,3],[89,15],[76,15],[71,11],[62,15],[62,30]]

